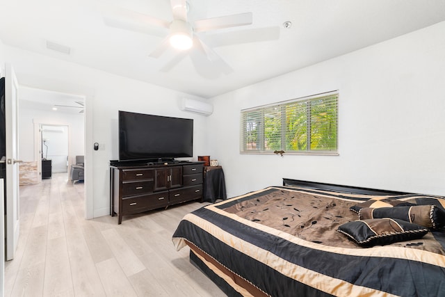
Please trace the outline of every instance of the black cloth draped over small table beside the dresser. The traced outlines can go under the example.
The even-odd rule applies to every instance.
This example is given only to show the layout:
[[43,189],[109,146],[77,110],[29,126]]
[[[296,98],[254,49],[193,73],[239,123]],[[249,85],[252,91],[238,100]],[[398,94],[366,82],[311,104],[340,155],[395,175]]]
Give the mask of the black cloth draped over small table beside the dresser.
[[221,166],[204,166],[204,193],[202,201],[226,199],[224,171]]

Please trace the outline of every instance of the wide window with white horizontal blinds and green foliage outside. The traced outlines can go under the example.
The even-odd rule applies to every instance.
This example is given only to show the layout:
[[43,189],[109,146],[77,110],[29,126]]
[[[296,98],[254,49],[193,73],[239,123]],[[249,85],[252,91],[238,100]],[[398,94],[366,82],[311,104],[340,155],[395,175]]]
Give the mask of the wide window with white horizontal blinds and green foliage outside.
[[339,93],[241,111],[241,152],[337,154]]

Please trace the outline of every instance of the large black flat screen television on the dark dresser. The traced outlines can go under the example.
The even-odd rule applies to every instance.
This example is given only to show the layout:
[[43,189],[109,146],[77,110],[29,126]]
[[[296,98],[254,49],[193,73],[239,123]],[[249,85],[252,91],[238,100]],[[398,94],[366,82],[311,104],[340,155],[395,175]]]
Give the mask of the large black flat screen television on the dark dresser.
[[193,119],[128,111],[119,111],[118,119],[119,161],[165,161],[193,156]]

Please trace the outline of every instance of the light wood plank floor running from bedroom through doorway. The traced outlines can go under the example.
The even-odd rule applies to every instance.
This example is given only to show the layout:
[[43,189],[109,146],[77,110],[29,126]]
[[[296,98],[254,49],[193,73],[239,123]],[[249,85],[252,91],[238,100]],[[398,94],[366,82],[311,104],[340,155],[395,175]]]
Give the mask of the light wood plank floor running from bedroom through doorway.
[[83,184],[66,173],[20,187],[20,237],[5,296],[225,296],[177,252],[179,220],[203,204],[85,220]]

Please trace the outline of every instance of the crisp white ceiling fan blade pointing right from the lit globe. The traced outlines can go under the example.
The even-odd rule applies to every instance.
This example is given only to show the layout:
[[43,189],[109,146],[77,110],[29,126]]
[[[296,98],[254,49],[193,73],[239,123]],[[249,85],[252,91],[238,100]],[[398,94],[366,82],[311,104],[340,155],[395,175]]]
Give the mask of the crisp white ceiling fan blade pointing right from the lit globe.
[[236,15],[197,20],[193,22],[193,31],[204,32],[250,24],[252,24],[252,13],[238,13]]

